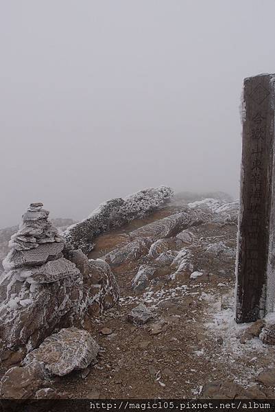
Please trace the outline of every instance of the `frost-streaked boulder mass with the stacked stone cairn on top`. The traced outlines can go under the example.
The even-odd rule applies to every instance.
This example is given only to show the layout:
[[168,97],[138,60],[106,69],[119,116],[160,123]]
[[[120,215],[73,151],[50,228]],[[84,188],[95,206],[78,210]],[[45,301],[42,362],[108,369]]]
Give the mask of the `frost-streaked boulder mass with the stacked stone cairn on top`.
[[[36,348],[53,331],[82,323],[88,307],[99,310],[119,299],[106,262],[88,262],[72,251],[48,220],[41,203],[32,203],[10,241],[0,278],[0,356]],[[80,252],[80,251],[79,251]],[[80,255],[80,256],[79,256]]]

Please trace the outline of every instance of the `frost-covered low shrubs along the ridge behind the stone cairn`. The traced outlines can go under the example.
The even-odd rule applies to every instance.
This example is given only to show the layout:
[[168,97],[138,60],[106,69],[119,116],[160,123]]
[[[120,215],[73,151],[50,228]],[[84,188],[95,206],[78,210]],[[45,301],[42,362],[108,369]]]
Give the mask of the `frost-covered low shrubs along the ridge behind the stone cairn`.
[[160,186],[141,190],[124,199],[112,199],[99,205],[82,222],[69,227],[64,236],[74,249],[82,249],[88,254],[93,249],[95,236],[150,214],[172,196],[170,187]]

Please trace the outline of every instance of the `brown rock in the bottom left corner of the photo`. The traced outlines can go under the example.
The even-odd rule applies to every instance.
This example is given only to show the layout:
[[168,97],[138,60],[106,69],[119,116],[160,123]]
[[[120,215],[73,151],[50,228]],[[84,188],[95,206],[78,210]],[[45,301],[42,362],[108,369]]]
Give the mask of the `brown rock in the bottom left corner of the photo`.
[[29,399],[43,385],[44,371],[38,362],[12,367],[1,379],[0,395],[8,399]]

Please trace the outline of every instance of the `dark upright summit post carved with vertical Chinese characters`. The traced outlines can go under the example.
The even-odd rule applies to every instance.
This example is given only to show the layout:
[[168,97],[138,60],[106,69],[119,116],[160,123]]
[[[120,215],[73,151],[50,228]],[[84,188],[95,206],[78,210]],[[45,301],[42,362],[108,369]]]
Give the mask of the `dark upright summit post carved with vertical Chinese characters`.
[[274,310],[275,294],[275,74],[243,85],[243,152],[237,246],[237,323]]

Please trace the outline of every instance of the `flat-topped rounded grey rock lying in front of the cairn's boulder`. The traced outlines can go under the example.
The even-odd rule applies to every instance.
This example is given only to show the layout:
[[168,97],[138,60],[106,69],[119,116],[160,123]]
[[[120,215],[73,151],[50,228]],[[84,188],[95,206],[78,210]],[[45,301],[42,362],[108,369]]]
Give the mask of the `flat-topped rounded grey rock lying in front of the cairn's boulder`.
[[95,360],[99,345],[86,330],[62,329],[52,334],[25,357],[25,365],[36,361],[50,374],[64,376],[74,369],[85,369]]

